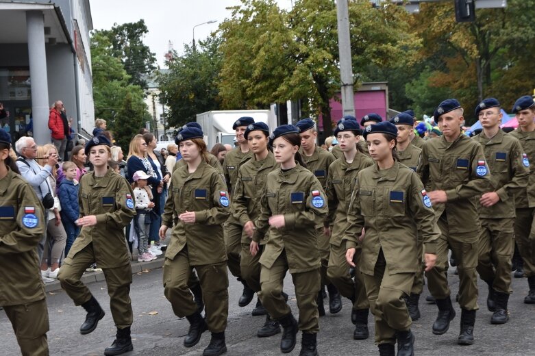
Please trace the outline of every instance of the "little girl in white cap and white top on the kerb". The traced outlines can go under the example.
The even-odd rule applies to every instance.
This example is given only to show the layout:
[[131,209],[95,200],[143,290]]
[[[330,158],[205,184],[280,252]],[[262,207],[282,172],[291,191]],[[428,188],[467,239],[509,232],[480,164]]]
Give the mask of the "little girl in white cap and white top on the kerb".
[[154,203],[151,201],[151,188],[147,185],[147,179],[151,176],[142,170],[136,171],[132,188],[136,198],[136,213],[134,218],[134,228],[138,236],[138,262],[149,262],[156,259],[156,256],[149,252],[149,231],[151,229],[151,210]]

